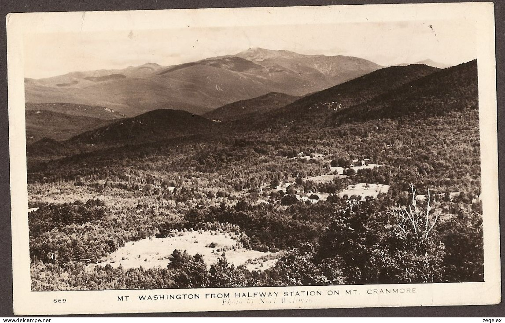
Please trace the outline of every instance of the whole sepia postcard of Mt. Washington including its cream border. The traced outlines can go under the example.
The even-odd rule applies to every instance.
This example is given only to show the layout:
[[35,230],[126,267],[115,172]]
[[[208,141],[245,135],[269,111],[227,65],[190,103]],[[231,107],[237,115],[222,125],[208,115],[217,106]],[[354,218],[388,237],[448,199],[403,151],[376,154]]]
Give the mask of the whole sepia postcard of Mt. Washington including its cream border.
[[7,31],[15,314],[500,301],[492,3]]

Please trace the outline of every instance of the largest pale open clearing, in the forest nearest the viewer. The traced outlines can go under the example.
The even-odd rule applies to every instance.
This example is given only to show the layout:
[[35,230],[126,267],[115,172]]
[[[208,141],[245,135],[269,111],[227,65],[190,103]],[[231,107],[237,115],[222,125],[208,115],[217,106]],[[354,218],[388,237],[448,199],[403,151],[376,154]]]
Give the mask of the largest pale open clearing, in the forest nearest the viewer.
[[[135,242],[128,242],[124,247],[107,256],[104,261],[98,264],[91,264],[90,266],[105,266],[110,264],[113,267],[121,265],[125,269],[140,266],[144,269],[166,267],[170,262],[168,258],[175,249],[186,250],[190,255],[201,254],[208,266],[216,263],[223,252],[228,262],[235,266],[244,264],[248,260],[256,260],[257,258],[274,254],[271,252],[244,249],[229,234],[220,233],[216,230],[189,231],[178,234],[180,236],[167,238],[151,237]],[[216,247],[206,247],[211,243],[214,243]],[[235,247],[235,250],[233,250],[233,247]],[[223,251],[223,248],[229,250]],[[250,270],[264,270],[274,265],[276,260],[264,261],[258,259],[254,262],[255,264],[249,263],[246,267]]]

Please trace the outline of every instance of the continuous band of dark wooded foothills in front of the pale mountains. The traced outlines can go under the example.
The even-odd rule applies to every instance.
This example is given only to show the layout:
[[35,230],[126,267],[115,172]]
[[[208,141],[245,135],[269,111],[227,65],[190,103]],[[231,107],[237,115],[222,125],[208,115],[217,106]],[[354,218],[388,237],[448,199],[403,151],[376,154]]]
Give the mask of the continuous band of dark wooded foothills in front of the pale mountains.
[[[447,69],[422,64],[391,66],[306,97],[269,93],[225,105],[206,117],[161,109],[136,117],[112,119],[62,143],[73,147],[73,151],[79,146],[105,149],[194,135],[276,132],[293,126],[335,127],[343,122],[403,116],[425,118],[477,109],[477,98],[476,61]],[[215,117],[223,120],[219,122]],[[32,146],[37,145],[45,150],[62,149],[59,144],[47,141]],[[36,149],[31,147],[30,151]]]

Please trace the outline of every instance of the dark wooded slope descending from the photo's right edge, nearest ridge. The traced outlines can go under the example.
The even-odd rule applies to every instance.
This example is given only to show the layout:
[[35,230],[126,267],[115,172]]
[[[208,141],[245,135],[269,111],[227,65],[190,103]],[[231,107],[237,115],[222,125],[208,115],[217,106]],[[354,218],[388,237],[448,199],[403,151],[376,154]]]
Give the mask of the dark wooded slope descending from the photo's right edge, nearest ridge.
[[478,108],[477,61],[440,70],[335,115],[339,122]]

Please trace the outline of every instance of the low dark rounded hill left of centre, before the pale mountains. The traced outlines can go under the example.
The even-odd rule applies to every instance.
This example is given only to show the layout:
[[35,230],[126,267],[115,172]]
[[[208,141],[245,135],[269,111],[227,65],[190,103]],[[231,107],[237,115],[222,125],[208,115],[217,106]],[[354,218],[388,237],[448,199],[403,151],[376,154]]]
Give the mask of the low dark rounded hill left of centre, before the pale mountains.
[[181,110],[154,110],[133,118],[79,134],[70,144],[124,145],[160,142],[169,138],[209,131],[213,122]]

